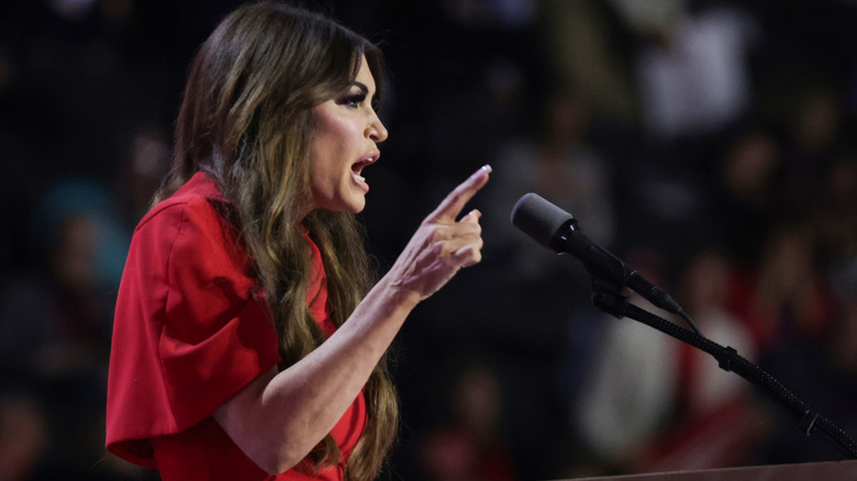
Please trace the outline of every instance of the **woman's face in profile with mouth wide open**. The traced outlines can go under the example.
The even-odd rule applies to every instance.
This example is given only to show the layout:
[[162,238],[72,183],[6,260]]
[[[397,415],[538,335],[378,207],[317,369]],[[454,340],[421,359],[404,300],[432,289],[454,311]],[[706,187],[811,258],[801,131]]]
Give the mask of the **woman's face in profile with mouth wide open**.
[[313,108],[310,146],[314,209],[357,213],[366,205],[369,184],[364,168],[378,160],[377,143],[387,130],[375,110],[376,85],[366,58],[354,82],[336,98]]

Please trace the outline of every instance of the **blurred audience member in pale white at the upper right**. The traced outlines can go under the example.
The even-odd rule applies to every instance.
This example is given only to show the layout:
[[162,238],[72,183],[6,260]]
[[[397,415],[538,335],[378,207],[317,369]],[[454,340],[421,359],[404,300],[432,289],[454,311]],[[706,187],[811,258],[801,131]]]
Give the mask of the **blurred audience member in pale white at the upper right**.
[[681,0],[612,3],[644,38],[636,85],[649,133],[666,139],[715,134],[747,113],[748,52],[758,35],[749,15],[726,4],[691,9]]

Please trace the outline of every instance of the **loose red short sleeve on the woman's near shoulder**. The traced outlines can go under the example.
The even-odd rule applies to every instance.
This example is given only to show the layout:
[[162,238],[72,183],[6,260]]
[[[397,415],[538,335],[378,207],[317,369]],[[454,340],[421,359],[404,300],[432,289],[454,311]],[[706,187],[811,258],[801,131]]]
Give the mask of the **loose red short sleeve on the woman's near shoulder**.
[[279,361],[234,232],[207,197],[182,190],[137,226],[114,317],[107,447],[151,467],[151,437],[207,418]]

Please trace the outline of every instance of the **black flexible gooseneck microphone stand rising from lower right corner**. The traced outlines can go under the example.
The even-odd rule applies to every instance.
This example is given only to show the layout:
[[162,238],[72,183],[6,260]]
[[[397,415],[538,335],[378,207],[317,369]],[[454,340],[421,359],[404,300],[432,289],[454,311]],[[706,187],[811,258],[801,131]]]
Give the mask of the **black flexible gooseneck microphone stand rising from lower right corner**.
[[[609,281],[604,281],[597,276],[592,279],[592,304],[608,314],[619,318],[630,317],[652,326],[669,336],[685,342],[698,349],[710,354],[721,369],[732,371],[746,379],[758,388],[767,392],[775,401],[783,405],[790,414],[797,420],[798,427],[806,436],[820,430],[833,440],[837,448],[845,452],[849,458],[857,459],[857,443],[852,439],[844,430],[828,421],[826,417],[812,410],[805,402],[801,401],[787,390],[772,376],[767,373],[760,367],[741,357],[732,347],[723,347],[701,335],[688,331],[677,324],[674,324],[663,317],[659,317],[648,311],[645,311],[631,303],[626,295],[621,294],[623,287],[617,287]],[[617,289],[619,288],[619,289]]]

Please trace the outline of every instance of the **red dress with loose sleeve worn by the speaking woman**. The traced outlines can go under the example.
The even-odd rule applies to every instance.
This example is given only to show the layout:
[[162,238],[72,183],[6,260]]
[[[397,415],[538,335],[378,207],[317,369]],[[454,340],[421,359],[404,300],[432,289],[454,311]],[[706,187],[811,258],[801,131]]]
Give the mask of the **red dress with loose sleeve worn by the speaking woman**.
[[[342,480],[366,421],[363,394],[331,432],[343,461],[316,478],[266,473],[212,417],[280,360],[249,258],[212,201],[223,202],[220,190],[197,174],[134,232],[114,317],[107,448],[157,468],[165,481]],[[310,246],[308,304],[331,335],[326,277],[319,248]]]

